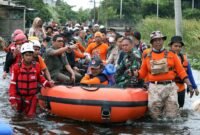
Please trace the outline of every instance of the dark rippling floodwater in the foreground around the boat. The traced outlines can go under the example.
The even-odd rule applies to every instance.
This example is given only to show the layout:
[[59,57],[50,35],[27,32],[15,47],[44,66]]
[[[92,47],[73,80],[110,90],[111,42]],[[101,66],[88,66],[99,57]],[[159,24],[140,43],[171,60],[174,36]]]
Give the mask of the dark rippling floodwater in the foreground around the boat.
[[[94,124],[78,122],[45,114],[38,109],[34,119],[16,114],[8,102],[9,77],[2,79],[3,65],[0,65],[0,119],[9,123],[14,134],[72,134],[72,135],[129,135],[129,134],[173,134],[173,135],[199,135],[200,114],[194,113],[191,103],[200,97],[192,99],[186,95],[186,103],[181,111],[181,119],[177,121],[153,122],[149,118],[129,121],[120,124]],[[200,88],[200,72],[193,71],[198,87]]]

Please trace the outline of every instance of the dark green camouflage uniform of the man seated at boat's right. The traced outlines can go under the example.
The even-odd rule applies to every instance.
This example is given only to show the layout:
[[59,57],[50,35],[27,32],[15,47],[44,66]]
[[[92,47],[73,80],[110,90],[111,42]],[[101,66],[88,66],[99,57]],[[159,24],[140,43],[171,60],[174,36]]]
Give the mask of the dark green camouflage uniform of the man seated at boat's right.
[[136,49],[133,48],[130,53],[125,54],[122,62],[117,68],[115,75],[115,80],[117,86],[124,87],[142,87],[143,81],[138,80],[135,76],[130,76],[128,74],[132,73],[141,66],[141,54]]

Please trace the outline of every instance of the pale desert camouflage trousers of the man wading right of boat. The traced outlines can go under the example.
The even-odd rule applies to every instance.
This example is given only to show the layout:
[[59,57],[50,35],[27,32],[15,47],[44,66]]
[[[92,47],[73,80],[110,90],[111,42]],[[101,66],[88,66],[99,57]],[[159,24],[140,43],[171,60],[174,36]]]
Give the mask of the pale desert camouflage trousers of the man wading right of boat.
[[176,84],[167,85],[150,83],[148,89],[148,108],[152,118],[176,118],[178,116]]

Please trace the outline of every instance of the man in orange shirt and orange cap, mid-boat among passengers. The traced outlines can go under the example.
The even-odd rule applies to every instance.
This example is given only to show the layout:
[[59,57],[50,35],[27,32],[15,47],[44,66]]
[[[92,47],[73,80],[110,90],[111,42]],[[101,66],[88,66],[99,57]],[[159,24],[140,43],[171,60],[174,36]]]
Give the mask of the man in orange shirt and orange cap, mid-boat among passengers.
[[94,34],[95,42],[90,43],[85,52],[89,53],[91,57],[99,56],[101,60],[106,61],[108,45],[102,41],[102,33],[96,32]]

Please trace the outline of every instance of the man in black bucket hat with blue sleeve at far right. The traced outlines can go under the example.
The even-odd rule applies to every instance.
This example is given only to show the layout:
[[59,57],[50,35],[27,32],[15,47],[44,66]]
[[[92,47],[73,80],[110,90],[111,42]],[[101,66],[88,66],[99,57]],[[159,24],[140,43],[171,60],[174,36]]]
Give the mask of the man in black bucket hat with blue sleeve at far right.
[[[173,36],[171,38],[171,42],[169,43],[170,49],[174,51],[181,61],[181,64],[183,65],[185,71],[187,72],[188,78],[192,84],[192,88],[194,89],[195,94],[198,96],[199,91],[197,89],[197,85],[194,81],[193,74],[191,72],[191,67],[189,65],[189,61],[187,59],[187,56],[181,52],[182,47],[184,46],[184,43],[182,41],[181,36]],[[175,78],[176,85],[178,86],[178,103],[179,107],[183,107],[184,101],[185,101],[185,84],[183,80],[180,79],[180,77],[176,76]]]

